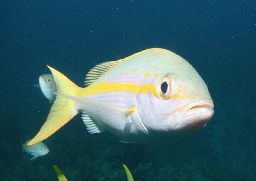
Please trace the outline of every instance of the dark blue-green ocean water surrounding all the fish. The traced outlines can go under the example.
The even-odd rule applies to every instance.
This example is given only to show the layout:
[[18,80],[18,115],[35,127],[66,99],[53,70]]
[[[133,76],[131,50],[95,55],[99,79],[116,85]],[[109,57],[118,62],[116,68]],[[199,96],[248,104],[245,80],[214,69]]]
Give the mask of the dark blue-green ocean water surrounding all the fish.
[[[171,0],[5,0],[0,2],[0,180],[256,180],[256,2]],[[90,134],[76,116],[29,161],[49,101],[32,85],[46,65],[77,85],[93,66],[147,48],[185,58],[206,82],[215,114],[206,127],[163,145],[123,144]]]

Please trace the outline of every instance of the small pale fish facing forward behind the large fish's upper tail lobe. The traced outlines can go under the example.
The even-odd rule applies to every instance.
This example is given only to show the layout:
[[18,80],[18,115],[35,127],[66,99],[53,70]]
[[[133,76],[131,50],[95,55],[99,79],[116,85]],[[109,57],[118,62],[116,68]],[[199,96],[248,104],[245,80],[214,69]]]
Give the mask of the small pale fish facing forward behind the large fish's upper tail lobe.
[[56,95],[56,83],[52,74],[44,74],[39,77],[39,85],[44,96],[52,103]]

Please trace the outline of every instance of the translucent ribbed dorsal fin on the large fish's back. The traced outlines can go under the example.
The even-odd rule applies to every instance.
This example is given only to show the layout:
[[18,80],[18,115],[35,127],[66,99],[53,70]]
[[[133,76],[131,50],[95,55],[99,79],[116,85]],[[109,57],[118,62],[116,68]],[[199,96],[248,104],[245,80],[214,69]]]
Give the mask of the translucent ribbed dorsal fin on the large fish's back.
[[99,65],[96,65],[86,75],[84,79],[84,85],[87,87],[91,85],[94,81],[99,79],[101,76],[106,74],[109,70],[116,67],[120,63],[122,63],[125,59],[119,59],[117,61],[104,62]]

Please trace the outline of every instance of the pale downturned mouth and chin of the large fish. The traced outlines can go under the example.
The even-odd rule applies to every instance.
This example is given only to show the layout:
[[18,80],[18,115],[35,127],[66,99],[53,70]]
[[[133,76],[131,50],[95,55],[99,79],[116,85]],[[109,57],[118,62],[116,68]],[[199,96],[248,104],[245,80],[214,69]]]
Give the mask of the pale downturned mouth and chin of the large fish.
[[175,134],[185,135],[206,125],[213,116],[213,108],[212,100],[200,99],[172,113],[171,117],[176,125]]

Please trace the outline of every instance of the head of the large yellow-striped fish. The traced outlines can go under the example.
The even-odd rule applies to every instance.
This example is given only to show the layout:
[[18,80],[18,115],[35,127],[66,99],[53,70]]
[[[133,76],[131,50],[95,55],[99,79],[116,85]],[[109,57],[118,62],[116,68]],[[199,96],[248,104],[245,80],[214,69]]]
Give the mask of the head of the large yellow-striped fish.
[[148,131],[168,141],[207,124],[214,105],[207,85],[192,65],[165,51],[164,56],[157,55],[153,67],[159,77],[144,79],[154,85],[153,91],[137,100],[140,118]]

